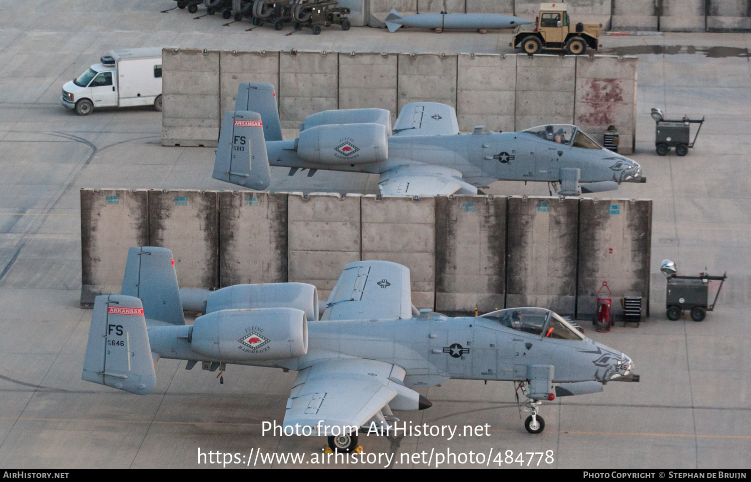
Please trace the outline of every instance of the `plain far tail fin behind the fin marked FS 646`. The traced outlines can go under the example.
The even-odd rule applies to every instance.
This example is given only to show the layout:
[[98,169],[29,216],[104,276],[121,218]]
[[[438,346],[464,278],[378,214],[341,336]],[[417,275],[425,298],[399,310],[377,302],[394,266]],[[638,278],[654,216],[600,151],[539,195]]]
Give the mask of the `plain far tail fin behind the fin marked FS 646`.
[[120,294],[140,298],[148,319],[185,325],[175,261],[166,247],[128,248]]

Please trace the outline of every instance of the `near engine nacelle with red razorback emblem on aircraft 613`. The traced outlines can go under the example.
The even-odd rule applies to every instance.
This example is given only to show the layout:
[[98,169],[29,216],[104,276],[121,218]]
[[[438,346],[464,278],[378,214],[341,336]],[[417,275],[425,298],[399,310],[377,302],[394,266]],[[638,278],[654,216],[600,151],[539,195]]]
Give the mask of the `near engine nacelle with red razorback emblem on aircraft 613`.
[[326,124],[300,131],[297,157],[311,163],[364,164],[388,159],[384,124]]

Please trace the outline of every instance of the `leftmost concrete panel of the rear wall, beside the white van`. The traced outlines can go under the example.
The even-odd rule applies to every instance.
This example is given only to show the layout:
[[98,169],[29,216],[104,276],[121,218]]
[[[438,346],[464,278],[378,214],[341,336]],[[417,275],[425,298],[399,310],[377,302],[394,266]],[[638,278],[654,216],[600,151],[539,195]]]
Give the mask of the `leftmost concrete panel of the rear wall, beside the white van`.
[[162,49],[161,145],[219,141],[219,51]]

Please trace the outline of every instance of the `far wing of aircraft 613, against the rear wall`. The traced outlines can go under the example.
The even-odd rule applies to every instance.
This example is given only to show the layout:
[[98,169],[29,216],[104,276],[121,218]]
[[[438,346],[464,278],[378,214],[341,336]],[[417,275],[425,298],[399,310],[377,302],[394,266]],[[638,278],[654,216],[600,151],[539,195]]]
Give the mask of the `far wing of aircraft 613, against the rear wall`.
[[454,107],[437,102],[413,102],[402,107],[394,136],[436,136],[459,133]]

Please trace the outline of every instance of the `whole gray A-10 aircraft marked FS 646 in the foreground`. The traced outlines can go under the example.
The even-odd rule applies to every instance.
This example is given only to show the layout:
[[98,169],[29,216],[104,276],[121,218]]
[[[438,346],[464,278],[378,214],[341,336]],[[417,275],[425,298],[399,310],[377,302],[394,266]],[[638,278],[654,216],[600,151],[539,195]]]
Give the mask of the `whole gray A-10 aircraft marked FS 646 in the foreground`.
[[[320,319],[318,293],[305,283],[192,295],[185,306],[170,250],[131,247],[122,295],[96,297],[82,378],[145,395],[159,358],[187,360],[187,370],[198,361],[212,371],[225,364],[296,370],[284,427],[327,436],[334,451],[357,448],[358,430],[388,435],[399,421],[392,410],[432,405],[415,388],[447,379],[514,382],[527,398],[530,433],[544,429],[542,400],[639,381],[628,356],[550,310],[457,318],[418,311],[409,269],[394,262],[346,265]],[[205,314],[185,325],[184,307]]]

